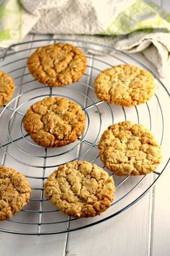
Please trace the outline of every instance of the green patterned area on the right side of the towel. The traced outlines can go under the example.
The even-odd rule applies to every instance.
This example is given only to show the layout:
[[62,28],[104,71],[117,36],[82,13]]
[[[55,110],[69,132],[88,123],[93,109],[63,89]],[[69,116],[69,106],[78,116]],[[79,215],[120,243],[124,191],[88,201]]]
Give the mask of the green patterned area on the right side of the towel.
[[135,31],[170,31],[170,14],[155,4],[146,4],[137,0],[124,12],[121,12],[104,31],[105,35],[125,35]]

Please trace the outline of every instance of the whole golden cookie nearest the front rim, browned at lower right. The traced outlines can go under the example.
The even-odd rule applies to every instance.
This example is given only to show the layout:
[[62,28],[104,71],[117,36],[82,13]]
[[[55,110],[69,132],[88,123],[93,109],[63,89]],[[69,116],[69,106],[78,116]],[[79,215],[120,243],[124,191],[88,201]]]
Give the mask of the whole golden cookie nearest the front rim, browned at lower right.
[[85,218],[109,208],[115,184],[96,164],[74,161],[58,167],[45,182],[45,197],[68,216]]

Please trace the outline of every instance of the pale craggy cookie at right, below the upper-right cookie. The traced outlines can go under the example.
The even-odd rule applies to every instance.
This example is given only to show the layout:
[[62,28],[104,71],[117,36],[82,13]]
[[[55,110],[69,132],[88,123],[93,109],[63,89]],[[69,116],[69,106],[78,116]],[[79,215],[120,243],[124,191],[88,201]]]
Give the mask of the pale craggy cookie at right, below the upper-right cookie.
[[149,174],[161,163],[161,147],[151,132],[131,121],[109,126],[98,148],[104,166],[118,176]]

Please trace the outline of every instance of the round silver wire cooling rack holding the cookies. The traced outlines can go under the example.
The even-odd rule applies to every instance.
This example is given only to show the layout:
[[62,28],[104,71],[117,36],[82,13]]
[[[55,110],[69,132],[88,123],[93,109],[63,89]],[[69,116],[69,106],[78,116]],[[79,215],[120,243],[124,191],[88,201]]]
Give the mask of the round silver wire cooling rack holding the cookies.
[[[19,43],[17,51],[6,49],[1,57],[1,69],[14,77],[15,95],[0,113],[1,164],[22,172],[29,180],[32,195],[28,205],[9,221],[0,223],[0,231],[12,234],[61,234],[93,226],[130,208],[153,187],[169,163],[166,141],[169,130],[169,92],[156,80],[156,94],[150,101],[133,108],[109,105],[99,101],[94,93],[94,79],[103,69],[117,64],[133,64],[148,69],[125,53],[97,43],[62,40],[81,48],[86,54],[84,77],[73,85],[50,88],[32,78],[27,69],[27,57],[39,46],[58,42],[58,39],[34,40]],[[61,40],[60,40],[61,41]],[[47,149],[35,144],[23,129],[27,109],[42,98],[55,96],[79,103],[86,114],[86,129],[79,140],[61,148]],[[111,174],[99,161],[97,143],[110,124],[130,120],[151,129],[161,144],[163,161],[153,174],[138,177],[119,177]],[[116,197],[112,206],[101,216],[88,219],[69,218],[44,197],[44,182],[57,166],[68,161],[84,160],[97,163],[114,177]]]

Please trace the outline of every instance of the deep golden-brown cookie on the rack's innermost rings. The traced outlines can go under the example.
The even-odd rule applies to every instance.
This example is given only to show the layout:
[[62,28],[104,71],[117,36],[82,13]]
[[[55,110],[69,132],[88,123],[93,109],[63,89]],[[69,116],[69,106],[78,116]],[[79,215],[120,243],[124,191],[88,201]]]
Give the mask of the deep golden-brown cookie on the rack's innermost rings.
[[67,98],[44,98],[24,116],[24,129],[37,144],[46,148],[68,145],[81,136],[86,116],[81,106]]

